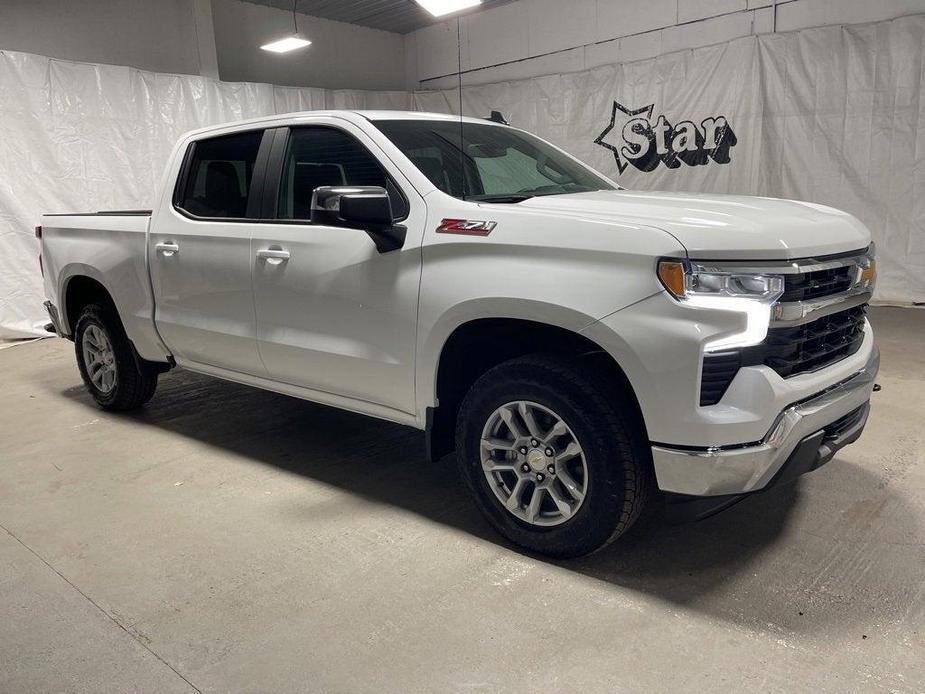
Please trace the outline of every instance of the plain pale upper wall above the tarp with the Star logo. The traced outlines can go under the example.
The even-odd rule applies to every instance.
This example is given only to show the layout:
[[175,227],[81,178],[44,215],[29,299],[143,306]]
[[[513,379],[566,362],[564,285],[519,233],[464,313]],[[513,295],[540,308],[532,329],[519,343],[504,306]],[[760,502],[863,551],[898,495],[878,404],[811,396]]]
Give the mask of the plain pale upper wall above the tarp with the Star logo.
[[[464,84],[577,72],[774,30],[772,0],[519,0],[460,22]],[[779,0],[777,31],[893,19],[925,0]],[[456,84],[456,20],[405,37],[407,82]]]

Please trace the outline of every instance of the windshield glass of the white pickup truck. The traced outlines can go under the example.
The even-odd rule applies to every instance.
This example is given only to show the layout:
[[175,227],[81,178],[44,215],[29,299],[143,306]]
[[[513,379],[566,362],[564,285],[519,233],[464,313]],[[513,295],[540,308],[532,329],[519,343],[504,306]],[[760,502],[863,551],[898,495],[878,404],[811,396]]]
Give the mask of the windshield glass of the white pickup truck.
[[456,198],[520,202],[618,187],[537,137],[458,121],[383,120],[381,130],[437,188]]

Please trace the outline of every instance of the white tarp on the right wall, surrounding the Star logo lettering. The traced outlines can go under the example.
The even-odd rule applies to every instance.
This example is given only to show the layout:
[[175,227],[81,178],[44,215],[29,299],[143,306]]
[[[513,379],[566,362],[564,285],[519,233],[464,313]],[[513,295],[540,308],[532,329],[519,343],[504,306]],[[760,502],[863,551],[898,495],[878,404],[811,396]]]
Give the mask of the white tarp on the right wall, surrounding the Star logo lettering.
[[[458,99],[456,90],[417,93],[415,107],[455,112]],[[626,113],[650,105],[648,118]],[[876,299],[925,301],[923,15],[463,88],[466,114],[490,109],[627,188],[794,198],[850,212],[877,243]],[[614,115],[615,127],[604,134]],[[656,160],[643,172],[595,143],[624,152],[623,124],[641,116],[655,126],[660,115],[675,127],[727,119],[736,140],[729,163],[675,161],[670,169]]]

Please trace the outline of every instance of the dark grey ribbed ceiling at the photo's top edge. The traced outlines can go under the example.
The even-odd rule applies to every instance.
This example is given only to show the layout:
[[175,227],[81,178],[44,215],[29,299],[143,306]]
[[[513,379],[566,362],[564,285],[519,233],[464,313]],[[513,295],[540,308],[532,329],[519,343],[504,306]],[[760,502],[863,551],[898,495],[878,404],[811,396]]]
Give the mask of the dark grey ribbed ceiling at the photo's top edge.
[[[482,0],[482,4],[452,17],[471,14],[513,0]],[[292,10],[292,0],[247,0],[281,10]],[[444,19],[436,19],[414,0],[296,0],[296,11],[323,19],[407,34]]]

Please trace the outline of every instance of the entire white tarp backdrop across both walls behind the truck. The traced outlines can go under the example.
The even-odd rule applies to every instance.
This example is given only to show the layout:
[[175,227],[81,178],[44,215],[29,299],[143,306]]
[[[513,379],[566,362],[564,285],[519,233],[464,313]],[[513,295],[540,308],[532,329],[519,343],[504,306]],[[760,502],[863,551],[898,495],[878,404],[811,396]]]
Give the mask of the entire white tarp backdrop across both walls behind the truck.
[[[0,52],[0,338],[39,334],[45,322],[39,216],[150,207],[181,133],[317,108],[456,112],[458,98],[222,83]],[[925,16],[464,87],[463,110],[500,110],[628,188],[847,210],[877,242],[877,299],[925,301]],[[719,140],[724,147],[709,148]]]

